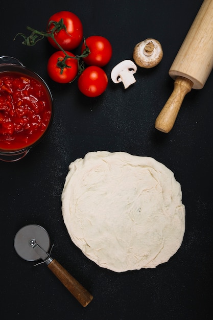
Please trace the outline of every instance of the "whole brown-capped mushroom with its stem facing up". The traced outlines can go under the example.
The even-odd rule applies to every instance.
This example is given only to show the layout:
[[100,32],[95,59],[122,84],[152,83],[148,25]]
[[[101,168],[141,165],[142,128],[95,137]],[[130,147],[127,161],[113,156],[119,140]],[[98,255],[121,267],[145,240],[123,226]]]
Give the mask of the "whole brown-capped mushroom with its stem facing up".
[[152,68],[163,57],[163,50],[159,41],[148,38],[137,43],[133,50],[133,59],[138,66]]

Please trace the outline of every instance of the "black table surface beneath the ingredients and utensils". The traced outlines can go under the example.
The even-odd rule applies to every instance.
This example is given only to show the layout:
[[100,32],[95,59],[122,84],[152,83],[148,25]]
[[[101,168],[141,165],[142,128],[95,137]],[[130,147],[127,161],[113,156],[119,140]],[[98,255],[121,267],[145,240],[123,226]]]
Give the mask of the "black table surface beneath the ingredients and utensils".
[[[1,56],[13,56],[49,85],[55,105],[52,127],[43,141],[18,162],[0,162],[1,172],[1,319],[175,319],[212,318],[212,136],[213,74],[201,90],[183,101],[169,133],[154,128],[172,93],[169,68],[202,0],[19,1],[1,4]],[[83,96],[72,84],[57,84],[46,63],[55,51],[46,39],[23,45],[18,32],[43,31],[58,11],[77,14],[84,36],[102,35],[113,55],[104,67],[108,87],[97,98]],[[132,60],[136,43],[159,40],[163,59],[138,67],[128,89],[110,73]],[[74,51],[79,54],[79,48]],[[61,192],[68,165],[87,152],[125,151],[151,156],[171,169],[182,188],[186,228],[178,252],[155,269],[117,273],[86,258],[71,241],[61,213]],[[93,295],[83,308],[45,264],[33,267],[15,252],[16,232],[39,224],[54,242],[52,255]]]

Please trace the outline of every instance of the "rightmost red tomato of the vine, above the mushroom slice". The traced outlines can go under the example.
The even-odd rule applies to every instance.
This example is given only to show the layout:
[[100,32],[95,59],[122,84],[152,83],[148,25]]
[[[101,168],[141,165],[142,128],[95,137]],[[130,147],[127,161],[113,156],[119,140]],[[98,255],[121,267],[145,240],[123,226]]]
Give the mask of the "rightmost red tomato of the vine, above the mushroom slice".
[[[89,48],[90,54],[83,58],[88,65],[104,66],[112,56],[112,46],[109,40],[102,36],[90,36],[86,40],[86,45]],[[85,44],[82,44],[81,53],[85,49]]]

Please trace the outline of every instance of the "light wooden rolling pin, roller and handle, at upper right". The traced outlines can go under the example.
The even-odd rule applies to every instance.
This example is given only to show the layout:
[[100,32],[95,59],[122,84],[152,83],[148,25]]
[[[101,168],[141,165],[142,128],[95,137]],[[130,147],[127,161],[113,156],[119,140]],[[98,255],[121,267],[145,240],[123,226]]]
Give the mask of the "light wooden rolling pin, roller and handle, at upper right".
[[203,88],[212,67],[213,0],[204,0],[170,67],[174,89],[155,121],[157,130],[170,132],[185,95]]

